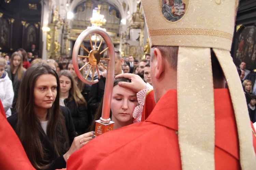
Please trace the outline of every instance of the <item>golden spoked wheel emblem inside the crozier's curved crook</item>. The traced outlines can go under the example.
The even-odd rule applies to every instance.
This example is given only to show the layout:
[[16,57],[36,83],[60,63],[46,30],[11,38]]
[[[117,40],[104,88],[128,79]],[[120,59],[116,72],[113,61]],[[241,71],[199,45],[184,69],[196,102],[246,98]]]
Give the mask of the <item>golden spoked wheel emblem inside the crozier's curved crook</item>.
[[[81,67],[79,70],[83,70],[87,65],[90,65],[90,68],[87,72],[87,75],[85,77],[85,79],[87,80],[87,77],[89,75],[89,72],[91,70],[91,68],[93,69],[93,75],[92,75],[92,82],[94,81],[94,70],[95,68],[97,69],[97,72],[98,72],[98,75],[99,75],[99,79],[100,79],[100,74],[99,74],[99,69],[98,69],[98,64],[100,64],[104,69],[108,70],[101,62],[100,60],[110,60],[110,58],[102,58],[101,57],[101,54],[106,51],[109,47],[106,47],[104,50],[102,50],[101,52],[99,51],[101,45],[102,45],[102,42],[104,40],[104,38],[102,37],[101,41],[100,41],[100,45],[99,47],[97,48],[97,38],[98,38],[98,35],[96,34],[95,35],[96,38],[95,38],[95,45],[93,47],[93,42],[91,40],[91,35],[89,35],[89,39],[90,39],[90,44],[91,44],[91,51],[89,51],[87,48],[85,48],[83,45],[80,45],[85,51],[88,52],[88,56],[83,56],[83,55],[78,55],[78,57],[81,57],[81,58],[86,58],[86,61],[87,63]],[[97,49],[96,49],[97,48]]]

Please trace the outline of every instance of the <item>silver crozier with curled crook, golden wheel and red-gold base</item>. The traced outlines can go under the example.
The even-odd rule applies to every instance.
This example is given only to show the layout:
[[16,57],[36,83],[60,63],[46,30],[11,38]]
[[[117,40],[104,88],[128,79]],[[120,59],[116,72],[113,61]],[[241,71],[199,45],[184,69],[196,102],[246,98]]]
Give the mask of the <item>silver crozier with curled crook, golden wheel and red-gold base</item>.
[[[91,36],[90,36],[91,34],[96,34],[94,47],[93,47],[93,42],[91,41]],[[97,48],[97,37],[98,37],[97,34],[99,34],[102,37],[102,40],[100,41],[98,48]],[[89,36],[89,39],[90,39],[90,45],[91,45],[91,49],[92,49],[91,51],[89,51],[82,45],[84,39],[87,36]],[[107,47],[104,50],[99,51],[103,40],[105,41],[105,44]],[[88,56],[78,55],[80,47],[82,47],[85,51],[88,52]],[[101,54],[106,50],[108,52],[108,58],[102,58]],[[86,61],[87,61],[87,63],[85,63],[85,65],[83,67],[81,67],[80,69],[78,67],[78,57],[86,58]],[[73,53],[72,53],[72,60],[73,60],[74,70],[75,70],[75,73],[77,74],[77,77],[80,80],[82,80],[84,83],[87,83],[87,84],[98,83],[98,80],[93,79],[95,69],[97,69],[97,72],[99,75],[97,65],[101,64],[103,66],[103,64],[100,63],[100,60],[108,61],[107,68],[105,68],[105,66],[103,66],[107,70],[106,83],[105,83],[105,90],[104,90],[104,96],[103,96],[102,114],[101,114],[100,120],[96,121],[95,136],[99,136],[102,133],[111,131],[113,129],[113,123],[114,123],[110,119],[110,106],[111,106],[111,98],[112,98],[112,91],[113,91],[113,84],[114,84],[115,51],[114,51],[113,42],[112,42],[110,36],[108,35],[108,33],[106,33],[101,28],[88,28],[88,29],[84,30],[75,41],[75,45],[74,45]],[[90,69],[93,69],[93,75],[92,75],[91,81],[87,80],[88,73],[87,73],[86,77],[84,78],[84,76],[80,72],[87,65],[90,65],[88,73],[89,73]],[[100,78],[100,75],[99,75],[99,78]]]

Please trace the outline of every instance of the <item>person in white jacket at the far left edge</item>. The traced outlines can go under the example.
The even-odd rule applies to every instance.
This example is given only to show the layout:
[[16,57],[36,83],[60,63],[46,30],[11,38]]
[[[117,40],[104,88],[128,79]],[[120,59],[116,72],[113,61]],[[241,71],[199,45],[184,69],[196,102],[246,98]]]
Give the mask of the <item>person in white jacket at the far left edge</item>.
[[11,116],[11,105],[14,97],[12,81],[4,71],[6,66],[4,58],[0,58],[0,99],[2,101],[6,117]]

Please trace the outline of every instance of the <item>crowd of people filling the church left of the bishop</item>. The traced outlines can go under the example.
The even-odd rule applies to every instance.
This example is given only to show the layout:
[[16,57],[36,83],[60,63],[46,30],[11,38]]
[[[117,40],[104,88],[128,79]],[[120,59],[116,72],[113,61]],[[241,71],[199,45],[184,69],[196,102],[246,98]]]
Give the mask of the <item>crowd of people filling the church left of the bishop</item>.
[[[149,61],[138,62],[133,56],[126,61],[118,49],[115,55],[115,75],[124,73],[122,68],[127,66],[143,78],[146,66],[145,82],[151,84]],[[70,154],[94,138],[95,120],[101,117],[104,68],[99,65],[100,75],[94,74],[99,83],[88,85],[78,79],[72,60],[61,59],[42,60],[22,48],[11,57],[6,54],[0,58],[0,99],[5,116],[36,169],[65,168]],[[81,68],[84,61],[78,65]],[[88,67],[81,70],[84,77],[87,72]],[[133,111],[138,106],[137,93],[118,86],[119,82],[131,81],[120,78],[114,82],[111,102],[114,129],[135,122]],[[73,144],[77,140],[81,145]]]

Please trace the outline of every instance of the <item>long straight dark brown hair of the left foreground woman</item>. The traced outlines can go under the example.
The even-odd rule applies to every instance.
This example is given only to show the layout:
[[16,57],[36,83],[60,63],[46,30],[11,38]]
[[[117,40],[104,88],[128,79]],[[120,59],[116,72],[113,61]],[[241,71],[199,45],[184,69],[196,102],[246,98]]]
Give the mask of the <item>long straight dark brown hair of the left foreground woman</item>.
[[45,133],[34,109],[34,85],[43,74],[52,74],[57,81],[57,96],[51,108],[47,112],[47,137],[51,141],[56,156],[60,156],[69,149],[69,138],[65,124],[65,118],[59,105],[59,78],[51,66],[45,63],[37,63],[29,67],[24,74],[19,87],[17,111],[18,122],[16,133],[22,142],[31,164],[36,169],[47,169],[53,163],[49,155],[46,155],[44,139]]

